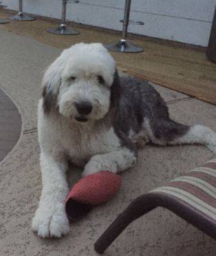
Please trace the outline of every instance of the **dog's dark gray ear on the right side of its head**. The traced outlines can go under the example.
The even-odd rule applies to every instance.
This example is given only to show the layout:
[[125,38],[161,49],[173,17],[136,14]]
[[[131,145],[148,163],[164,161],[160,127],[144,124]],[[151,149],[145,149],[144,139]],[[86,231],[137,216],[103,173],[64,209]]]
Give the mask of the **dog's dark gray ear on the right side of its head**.
[[121,87],[120,87],[120,77],[118,75],[118,70],[116,70],[114,74],[114,82],[112,83],[111,87],[111,107],[117,107],[119,99],[120,99],[120,94],[121,94]]

